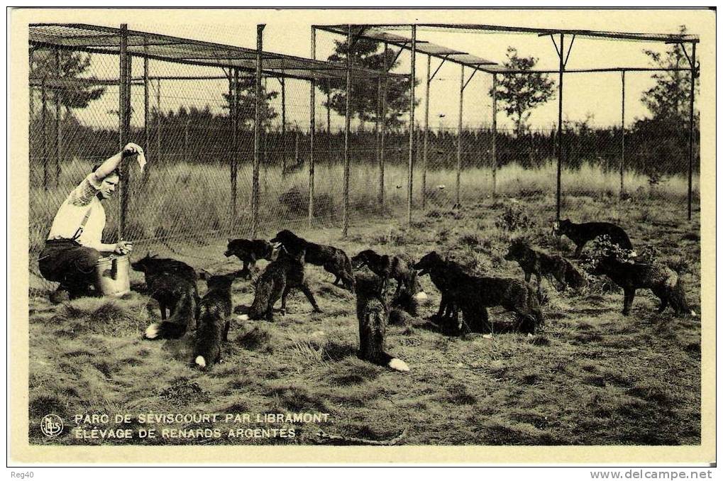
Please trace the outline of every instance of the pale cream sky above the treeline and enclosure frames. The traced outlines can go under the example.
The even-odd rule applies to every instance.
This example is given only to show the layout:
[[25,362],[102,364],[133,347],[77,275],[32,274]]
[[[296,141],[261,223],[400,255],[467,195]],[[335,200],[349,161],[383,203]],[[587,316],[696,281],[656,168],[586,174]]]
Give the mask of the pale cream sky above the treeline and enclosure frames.
[[[90,19],[87,23],[95,25],[118,26],[127,22],[132,30],[143,30],[184,38],[193,38],[215,43],[255,48],[256,24],[265,22],[265,51],[296,56],[310,55],[312,24],[333,24],[344,22],[476,22],[491,25],[518,25],[527,27],[568,27],[591,30],[617,30],[637,33],[674,33],[680,25],[688,25],[690,33],[696,31],[696,25],[705,20],[708,12],[698,11],[210,11],[193,14],[194,11],[170,11],[152,17],[148,14],[128,17],[124,14],[106,14]],[[67,14],[67,12],[64,12]],[[60,18],[60,17],[59,17]],[[87,21],[91,20],[91,21]],[[93,21],[95,20],[95,21]],[[397,32],[407,35],[408,31]],[[557,54],[549,37],[538,35],[440,32],[419,29],[417,38],[438,43],[442,46],[467,51],[485,59],[502,63],[508,46],[518,49],[522,56],[535,56],[539,59],[536,68],[557,69]],[[338,35],[317,32],[317,58],[325,59],[332,51]],[[704,44],[701,43],[703,48]],[[577,38],[567,64],[568,69],[589,67],[648,67],[648,57],[643,50],[650,48],[662,51],[667,46],[651,42],[608,41]],[[432,59],[432,71],[439,64]],[[416,77],[421,81],[416,88],[416,98],[420,103],[416,109],[416,122],[424,119],[424,76],[426,75],[427,56],[417,55]],[[703,64],[701,69],[705,69]],[[395,72],[408,73],[410,54],[403,52],[400,65]],[[432,81],[429,92],[429,124],[432,128],[456,128],[458,123],[460,70],[458,64],[445,63]],[[97,77],[117,75],[117,59],[111,56],[95,56],[90,71]],[[466,69],[466,78],[471,74]],[[134,63],[133,75],[142,75],[142,62]],[[177,64],[150,62],[150,75],[223,75],[221,69],[207,67],[187,67]],[[551,75],[557,82],[557,75]],[[647,72],[628,72],[625,78],[625,119],[630,126],[636,118],[649,114],[643,103],[643,91],[654,85]],[[489,88],[492,77],[477,72],[464,91],[463,125],[465,127],[484,127],[492,117],[492,101]],[[619,72],[565,75],[563,90],[563,118],[569,121],[590,119],[591,124],[600,127],[619,126],[621,121],[621,78]],[[267,88],[279,90],[276,80],[267,81]],[[215,112],[221,112],[223,100],[221,94],[228,89],[226,80],[204,81],[163,81],[161,85],[161,108],[176,110],[179,106],[208,105]],[[155,106],[155,85],[151,95],[151,106]],[[117,89],[109,88],[94,104],[74,114],[81,122],[88,124],[113,125],[116,117],[111,109],[117,105]],[[134,108],[142,112],[142,88],[133,89]],[[317,93],[317,126],[326,127],[326,112],[322,107],[323,95]],[[286,83],[287,121],[307,128],[309,122],[309,85],[307,82],[288,80]],[[274,101],[275,110],[281,111],[281,98]],[[117,107],[116,107],[117,108]],[[142,119],[134,115],[134,124]],[[511,127],[510,120],[503,112],[497,116],[500,128]],[[529,124],[533,128],[548,129],[557,123],[557,87],[555,96],[546,104],[536,108]],[[343,117],[333,115],[332,129],[343,128]]]

